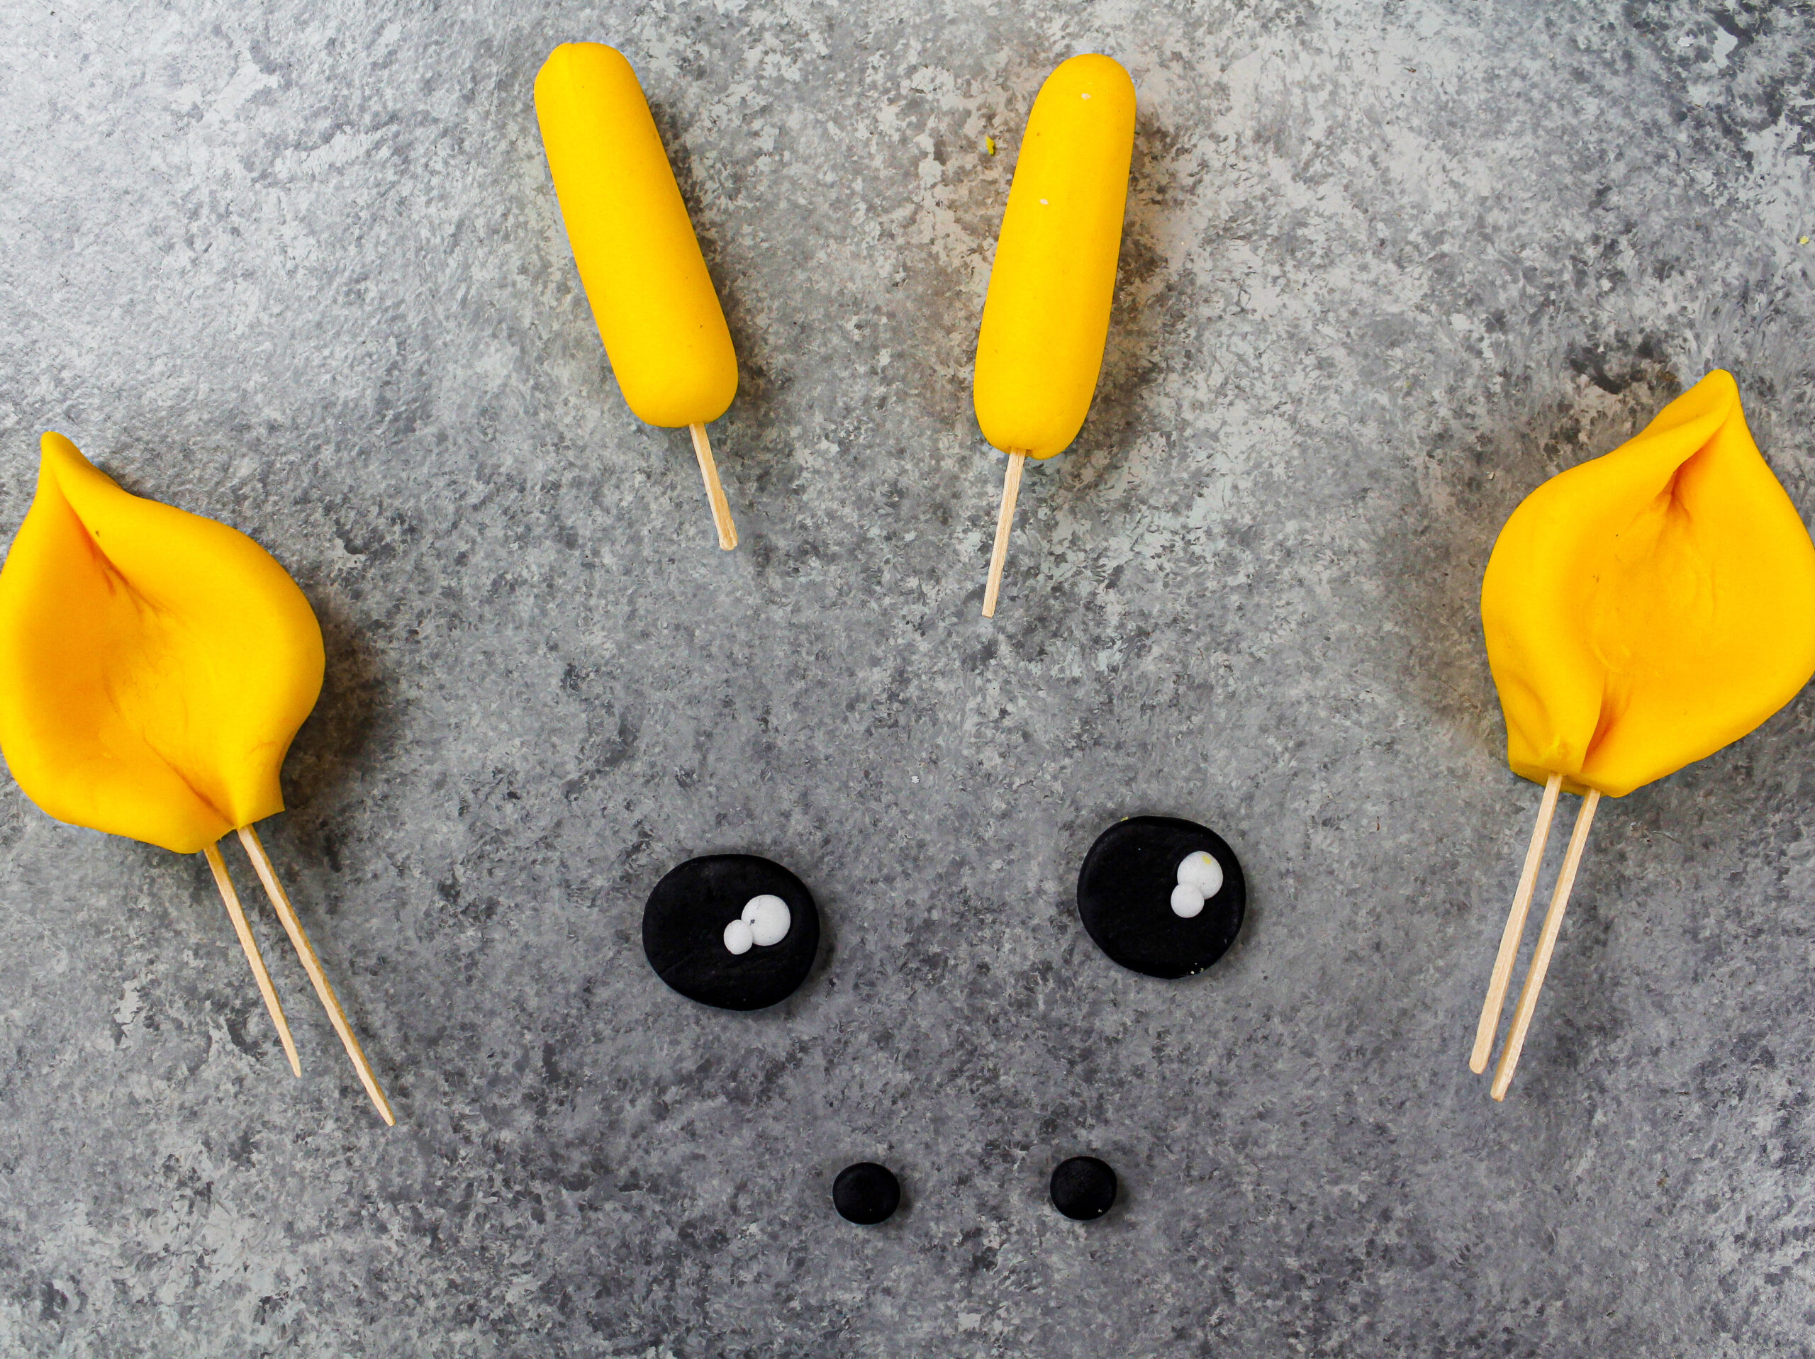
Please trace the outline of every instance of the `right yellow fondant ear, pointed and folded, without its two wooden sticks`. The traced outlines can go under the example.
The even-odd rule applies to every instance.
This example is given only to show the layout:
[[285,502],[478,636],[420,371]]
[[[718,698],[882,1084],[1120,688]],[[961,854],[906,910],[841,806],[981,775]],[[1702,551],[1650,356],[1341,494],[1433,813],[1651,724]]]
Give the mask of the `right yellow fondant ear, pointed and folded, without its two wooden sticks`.
[[1715,370],[1532,492],[1481,582],[1514,773],[1623,797],[1815,673],[1815,543]]

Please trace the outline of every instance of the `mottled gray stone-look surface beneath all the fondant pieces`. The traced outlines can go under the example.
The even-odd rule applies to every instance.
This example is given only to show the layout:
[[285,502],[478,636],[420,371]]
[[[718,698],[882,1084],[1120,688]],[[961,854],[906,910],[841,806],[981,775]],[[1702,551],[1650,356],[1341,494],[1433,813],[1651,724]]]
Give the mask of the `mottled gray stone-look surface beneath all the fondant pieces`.
[[[1606,804],[1514,1096],[1465,1067],[1537,804],[1499,523],[1715,365],[1815,512],[1815,13],[534,9],[0,13],[0,530],[56,428],[301,581],[267,842],[399,1112],[263,904],[301,1081],[201,860],[7,782],[0,1352],[1815,1354],[1815,699]],[[575,36],[724,292],[737,553],[577,290],[530,105]],[[989,624],[975,323],[1087,49],[1142,102],[1116,321]],[[1251,875],[1192,982],[1078,927],[1134,811]],[[715,849],[826,913],[773,1012],[643,962]],[[1087,1149],[1125,1199],[1074,1225]]]

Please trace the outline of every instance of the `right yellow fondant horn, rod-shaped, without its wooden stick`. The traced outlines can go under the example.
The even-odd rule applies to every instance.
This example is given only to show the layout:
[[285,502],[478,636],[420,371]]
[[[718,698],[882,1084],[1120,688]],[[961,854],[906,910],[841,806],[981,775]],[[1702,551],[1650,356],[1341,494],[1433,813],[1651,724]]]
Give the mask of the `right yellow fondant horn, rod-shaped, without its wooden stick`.
[[976,336],[991,445],[1051,457],[1096,394],[1134,154],[1134,82],[1107,56],[1060,64],[1033,102]]

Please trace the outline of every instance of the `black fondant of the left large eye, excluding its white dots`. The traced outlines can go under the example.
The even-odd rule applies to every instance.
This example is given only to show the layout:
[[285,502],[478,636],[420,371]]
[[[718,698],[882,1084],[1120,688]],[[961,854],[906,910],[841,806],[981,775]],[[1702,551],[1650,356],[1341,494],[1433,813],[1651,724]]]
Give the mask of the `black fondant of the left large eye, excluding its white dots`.
[[[724,927],[751,896],[788,902],[780,943],[748,953],[724,947]],[[655,884],[643,907],[643,953],[655,974],[688,1000],[726,1011],[759,1011],[793,994],[819,953],[819,909],[793,873],[757,855],[690,858]]]

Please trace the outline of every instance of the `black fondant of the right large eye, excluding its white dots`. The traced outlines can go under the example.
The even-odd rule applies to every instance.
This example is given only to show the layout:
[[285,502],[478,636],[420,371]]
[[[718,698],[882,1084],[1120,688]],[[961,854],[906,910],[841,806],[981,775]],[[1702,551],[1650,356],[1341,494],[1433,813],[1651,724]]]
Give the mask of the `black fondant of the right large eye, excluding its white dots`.
[[[1172,914],[1178,864],[1198,849],[1223,869],[1223,885],[1191,920]],[[1202,973],[1236,942],[1247,884],[1216,831],[1178,816],[1129,816],[1096,836],[1078,871],[1078,914],[1096,947],[1147,976]]]

